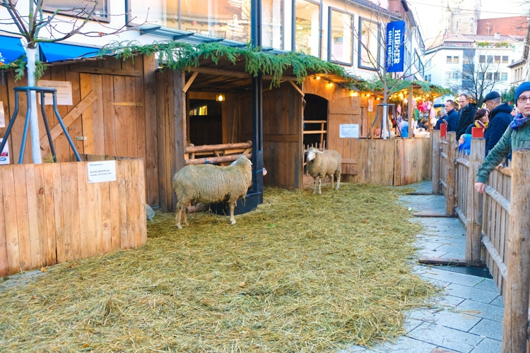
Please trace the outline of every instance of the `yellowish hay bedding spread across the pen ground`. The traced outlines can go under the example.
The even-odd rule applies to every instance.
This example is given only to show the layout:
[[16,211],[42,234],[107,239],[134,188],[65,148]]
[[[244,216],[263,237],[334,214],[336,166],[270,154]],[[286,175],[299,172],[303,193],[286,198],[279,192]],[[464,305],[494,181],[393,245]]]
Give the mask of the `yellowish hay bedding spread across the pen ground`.
[[157,213],[139,249],[54,266],[0,291],[3,352],[329,352],[404,333],[437,289],[411,274],[397,189],[266,188],[228,217]]

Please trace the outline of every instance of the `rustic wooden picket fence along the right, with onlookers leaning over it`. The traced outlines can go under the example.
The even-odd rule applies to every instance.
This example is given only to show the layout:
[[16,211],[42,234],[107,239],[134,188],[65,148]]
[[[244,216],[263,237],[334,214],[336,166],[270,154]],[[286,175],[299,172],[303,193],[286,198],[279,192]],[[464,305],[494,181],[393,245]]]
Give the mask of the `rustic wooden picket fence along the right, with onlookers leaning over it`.
[[445,196],[447,215],[466,227],[465,260],[447,260],[488,266],[505,304],[502,352],[530,352],[530,151],[514,151],[513,177],[512,168],[496,167],[480,194],[473,184],[484,149],[473,138],[471,153],[458,154],[454,132],[432,133],[432,192]]

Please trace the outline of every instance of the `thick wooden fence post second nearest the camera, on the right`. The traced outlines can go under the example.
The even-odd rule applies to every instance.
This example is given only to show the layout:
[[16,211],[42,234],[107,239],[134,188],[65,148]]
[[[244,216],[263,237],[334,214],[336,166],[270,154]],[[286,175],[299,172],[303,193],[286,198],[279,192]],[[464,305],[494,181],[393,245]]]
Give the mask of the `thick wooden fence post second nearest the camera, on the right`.
[[483,138],[473,138],[471,140],[466,215],[466,263],[481,262],[483,194],[476,192],[473,186],[476,172],[484,161],[484,148],[485,140]]

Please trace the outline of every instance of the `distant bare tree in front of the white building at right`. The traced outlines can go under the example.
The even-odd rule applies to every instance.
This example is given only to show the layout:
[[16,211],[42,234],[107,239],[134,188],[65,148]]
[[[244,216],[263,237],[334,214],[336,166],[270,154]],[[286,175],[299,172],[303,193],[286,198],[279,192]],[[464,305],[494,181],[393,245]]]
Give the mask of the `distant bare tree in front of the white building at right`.
[[462,68],[452,71],[451,80],[446,82],[454,92],[466,92],[478,103],[482,102],[485,92],[494,90],[500,83],[501,73],[493,55],[487,52],[476,54],[476,49],[464,49]]

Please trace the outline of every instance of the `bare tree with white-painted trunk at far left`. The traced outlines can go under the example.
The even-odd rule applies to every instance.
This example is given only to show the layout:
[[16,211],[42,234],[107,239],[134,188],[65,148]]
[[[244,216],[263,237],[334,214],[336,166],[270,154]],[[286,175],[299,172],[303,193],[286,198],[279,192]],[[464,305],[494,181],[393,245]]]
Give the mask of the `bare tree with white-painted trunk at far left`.
[[[9,15],[8,18],[0,18],[0,32],[21,35],[25,40],[28,86],[30,87],[35,86],[37,79],[35,49],[39,42],[61,42],[73,35],[102,37],[129,30],[128,23],[119,28],[110,28],[106,23],[100,22],[95,16],[97,0],[81,0],[77,6],[57,8],[53,12],[45,11],[43,6],[44,0],[28,0],[24,3],[20,0],[0,0],[0,9],[5,8]],[[69,16],[58,16],[61,13],[68,13]],[[85,30],[89,22],[98,23],[98,30]],[[41,32],[45,32],[45,35],[41,35]],[[32,157],[35,164],[40,164],[42,156],[35,91],[30,91],[29,99]]]

